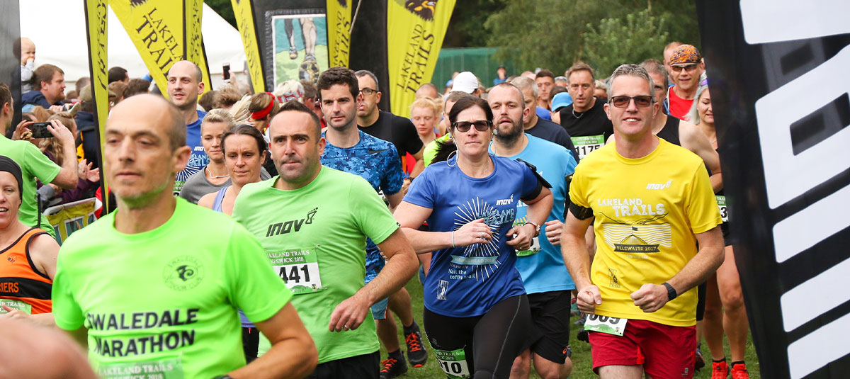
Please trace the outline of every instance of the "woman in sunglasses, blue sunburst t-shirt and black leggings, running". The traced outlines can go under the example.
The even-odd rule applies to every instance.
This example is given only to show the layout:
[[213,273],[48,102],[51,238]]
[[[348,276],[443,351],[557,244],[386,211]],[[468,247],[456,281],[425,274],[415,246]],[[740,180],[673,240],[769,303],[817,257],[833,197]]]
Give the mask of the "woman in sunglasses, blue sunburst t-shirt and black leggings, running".
[[[552,193],[524,162],[488,154],[492,120],[484,99],[459,99],[449,113],[456,156],[416,177],[395,212],[416,252],[433,252],[425,331],[448,377],[507,377],[538,337],[514,263],[540,234]],[[514,227],[519,201],[531,221]],[[430,231],[417,230],[424,221]]]

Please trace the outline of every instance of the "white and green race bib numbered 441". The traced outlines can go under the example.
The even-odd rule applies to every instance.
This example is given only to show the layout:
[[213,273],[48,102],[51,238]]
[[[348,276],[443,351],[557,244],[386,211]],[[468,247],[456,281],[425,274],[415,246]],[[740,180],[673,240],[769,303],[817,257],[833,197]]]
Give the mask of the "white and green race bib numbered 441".
[[275,273],[286,283],[293,295],[315,293],[325,289],[321,286],[319,255],[316,253],[318,247],[310,250],[266,252]]

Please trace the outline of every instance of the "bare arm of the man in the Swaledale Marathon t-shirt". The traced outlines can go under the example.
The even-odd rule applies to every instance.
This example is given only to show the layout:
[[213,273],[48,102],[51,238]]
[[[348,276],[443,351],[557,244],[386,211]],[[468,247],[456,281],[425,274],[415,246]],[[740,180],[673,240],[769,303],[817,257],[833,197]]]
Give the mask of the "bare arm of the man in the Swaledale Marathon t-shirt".
[[301,378],[313,372],[319,354],[292,303],[286,303],[271,319],[258,322],[257,328],[269,338],[269,352],[230,372],[229,376],[234,379]]

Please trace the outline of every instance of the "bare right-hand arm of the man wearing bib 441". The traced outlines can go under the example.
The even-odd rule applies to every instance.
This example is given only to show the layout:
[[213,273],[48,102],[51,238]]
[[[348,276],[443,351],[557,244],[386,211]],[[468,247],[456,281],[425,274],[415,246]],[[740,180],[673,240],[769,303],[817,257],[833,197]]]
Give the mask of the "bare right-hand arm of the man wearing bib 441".
[[377,246],[387,257],[387,265],[375,279],[354,293],[354,296],[337,305],[331,314],[331,324],[328,325],[331,331],[357,329],[365,320],[372,304],[399,291],[416,274],[416,269],[419,269],[413,248],[401,229],[396,229]]

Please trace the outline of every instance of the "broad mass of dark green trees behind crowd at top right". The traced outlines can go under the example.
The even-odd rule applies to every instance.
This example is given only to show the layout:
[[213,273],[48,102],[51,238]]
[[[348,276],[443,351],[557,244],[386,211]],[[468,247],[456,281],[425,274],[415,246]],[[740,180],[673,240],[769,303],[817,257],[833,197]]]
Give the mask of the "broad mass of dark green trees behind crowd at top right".
[[[664,45],[674,40],[700,47],[692,0],[504,1],[504,8],[490,14],[484,22],[486,42],[487,46],[498,48],[497,60],[511,60],[521,70],[542,67],[558,74],[578,59],[588,60],[591,65],[661,59]],[[645,12],[643,18],[641,12]],[[629,15],[634,23],[631,29]],[[653,23],[643,20],[647,17],[652,17]],[[451,22],[464,21],[453,16]],[[651,32],[643,30],[648,26],[652,26]],[[624,28],[630,32],[624,34]],[[654,39],[641,40],[638,34]],[[604,43],[605,47],[587,48],[588,37],[592,43]],[[600,60],[603,57],[605,60]],[[612,70],[598,68],[607,73]]]

